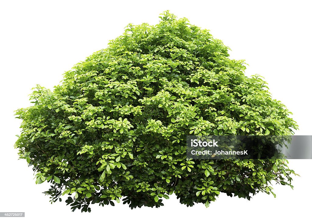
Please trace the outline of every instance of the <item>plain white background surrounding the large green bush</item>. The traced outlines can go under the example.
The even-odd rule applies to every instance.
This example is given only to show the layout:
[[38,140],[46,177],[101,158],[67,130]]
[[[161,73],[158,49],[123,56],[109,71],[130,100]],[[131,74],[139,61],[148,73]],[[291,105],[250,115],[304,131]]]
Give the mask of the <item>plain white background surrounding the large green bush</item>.
[[211,30],[232,49],[232,58],[245,59],[246,74],[264,76],[273,98],[294,113],[300,126],[296,135],[312,135],[309,1],[1,1],[0,212],[26,212],[26,218],[18,218],[26,220],[310,217],[311,160],[290,160],[290,168],[301,177],[294,178],[294,190],[274,185],[276,198],[260,193],[248,201],[221,194],[206,209],[203,204],[187,208],[172,196],[159,209],[92,205],[91,213],[72,213],[65,200],[50,204],[41,193],[49,185],[36,185],[26,160],[17,160],[13,145],[21,121],[13,111],[30,105],[30,89],[36,84],[52,89],[65,71],[105,48],[128,23],[157,24],[159,14],[167,9]]

